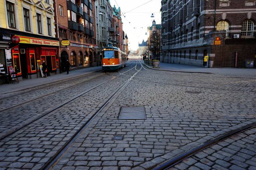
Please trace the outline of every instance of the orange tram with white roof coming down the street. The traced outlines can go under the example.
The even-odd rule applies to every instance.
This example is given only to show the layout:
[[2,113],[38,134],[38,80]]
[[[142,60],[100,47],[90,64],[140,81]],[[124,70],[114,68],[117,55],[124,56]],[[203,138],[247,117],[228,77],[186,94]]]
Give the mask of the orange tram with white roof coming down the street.
[[126,53],[121,51],[118,47],[104,47],[102,49],[102,69],[103,70],[117,70],[126,66],[128,58]]

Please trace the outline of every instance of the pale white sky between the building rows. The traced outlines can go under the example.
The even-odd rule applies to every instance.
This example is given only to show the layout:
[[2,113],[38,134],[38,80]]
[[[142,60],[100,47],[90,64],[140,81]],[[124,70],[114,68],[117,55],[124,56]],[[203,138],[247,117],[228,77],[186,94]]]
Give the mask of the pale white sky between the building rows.
[[[123,31],[127,34],[130,50],[136,51],[139,43],[147,41],[147,27],[153,20],[161,24],[161,0],[110,0],[112,7],[120,7]],[[152,13],[155,17],[151,17]]]

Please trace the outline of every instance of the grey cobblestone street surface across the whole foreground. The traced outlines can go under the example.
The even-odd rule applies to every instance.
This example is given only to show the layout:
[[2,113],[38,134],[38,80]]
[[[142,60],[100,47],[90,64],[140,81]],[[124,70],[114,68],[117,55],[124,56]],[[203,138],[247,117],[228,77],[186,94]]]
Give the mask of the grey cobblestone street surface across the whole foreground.
[[[133,77],[135,72],[138,73]],[[69,94],[72,98],[71,94],[76,96],[93,84],[111,78],[111,83],[104,84],[104,88],[98,87],[82,95],[47,118],[1,140],[0,169],[40,169],[79,129],[81,123],[86,122],[104,103],[104,98],[110,97],[112,90],[122,86],[129,78],[131,81],[113,96],[57,159],[53,170],[155,169],[208,141],[256,122],[256,81],[253,74],[168,72],[150,69],[133,60],[118,72],[106,75],[95,73],[88,77],[88,82],[73,79],[73,91],[65,85],[72,93],[63,90],[56,94],[49,93],[56,97]],[[57,84],[54,86],[56,89],[63,88]],[[31,98],[41,98],[42,94],[30,95]],[[23,97],[25,100],[26,95]],[[49,101],[49,98],[41,98],[40,103]],[[19,100],[22,101],[22,98]],[[51,108],[62,102],[60,97],[47,105]],[[29,119],[31,113],[26,107],[16,108],[17,114],[13,115],[17,117],[19,112],[20,116],[26,113]],[[134,118],[134,113],[119,119],[122,108],[137,107],[143,108],[145,119]],[[40,107],[31,109],[39,114]],[[8,124],[5,115],[1,115],[5,118],[1,124],[2,132],[10,128],[6,126],[4,129],[4,123]],[[252,128],[219,141],[170,169],[253,170],[256,169],[255,155],[256,130]]]

